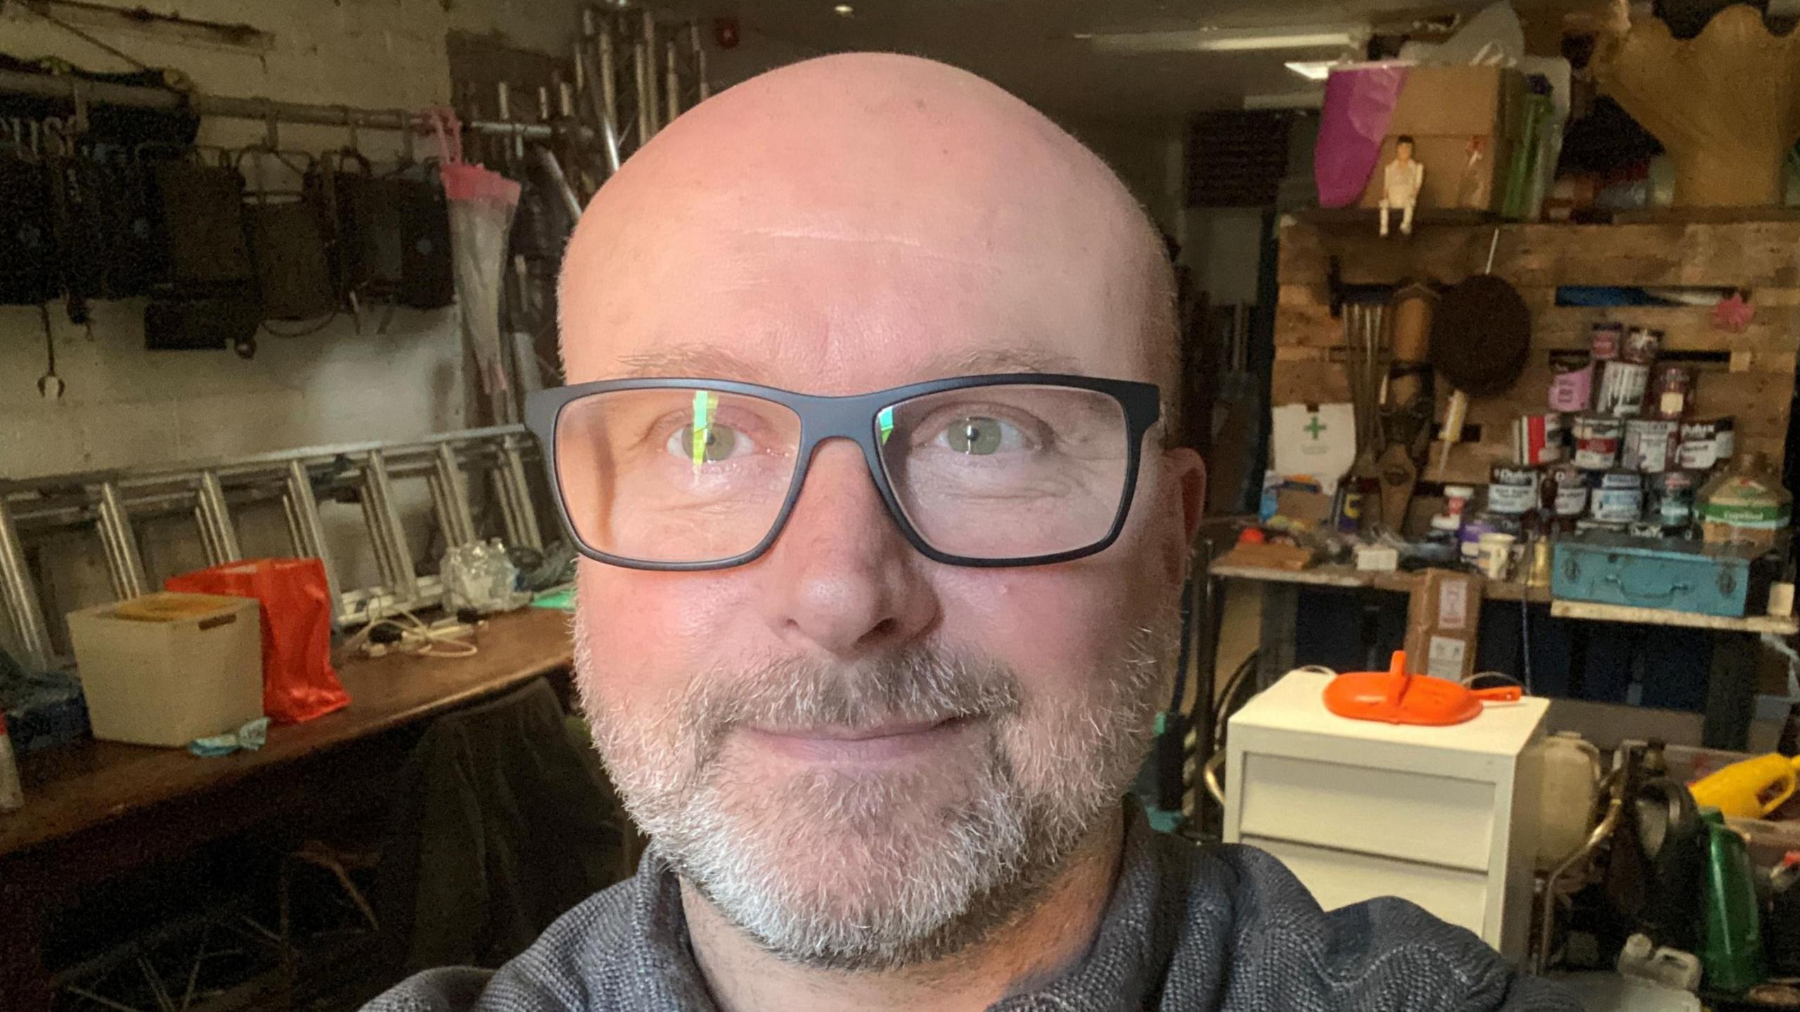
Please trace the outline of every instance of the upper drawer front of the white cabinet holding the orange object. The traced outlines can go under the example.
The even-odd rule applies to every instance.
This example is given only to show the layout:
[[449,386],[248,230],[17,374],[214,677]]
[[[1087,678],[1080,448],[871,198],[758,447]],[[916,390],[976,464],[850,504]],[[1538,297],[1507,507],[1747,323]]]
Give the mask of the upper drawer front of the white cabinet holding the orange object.
[[1489,868],[1492,783],[1246,753],[1240,791],[1244,839],[1287,839],[1481,873]]

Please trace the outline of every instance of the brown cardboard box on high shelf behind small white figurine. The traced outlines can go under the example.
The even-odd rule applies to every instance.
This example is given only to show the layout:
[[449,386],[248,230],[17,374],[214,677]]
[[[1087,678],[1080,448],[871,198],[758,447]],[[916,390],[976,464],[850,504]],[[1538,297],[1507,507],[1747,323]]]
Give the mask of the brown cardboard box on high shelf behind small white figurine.
[[1525,74],[1503,67],[1413,67],[1388,121],[1381,160],[1359,207],[1379,207],[1393,139],[1413,139],[1426,166],[1418,211],[1498,211],[1507,167],[1523,131]]

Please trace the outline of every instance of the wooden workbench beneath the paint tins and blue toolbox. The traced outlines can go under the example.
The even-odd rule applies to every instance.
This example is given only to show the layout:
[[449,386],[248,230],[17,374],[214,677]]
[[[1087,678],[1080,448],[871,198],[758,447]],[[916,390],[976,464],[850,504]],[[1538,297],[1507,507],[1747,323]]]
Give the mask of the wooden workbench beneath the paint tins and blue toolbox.
[[[1262,688],[1294,668],[1294,637],[1300,612],[1300,589],[1321,587],[1341,591],[1388,591],[1409,594],[1418,582],[1417,573],[1357,573],[1348,565],[1316,565],[1312,569],[1264,569],[1253,565],[1213,565],[1211,578],[1249,580],[1262,587],[1262,636],[1256,661],[1256,682]],[[1548,587],[1489,582],[1483,598],[1492,601],[1548,603],[1552,618],[1584,621],[1624,621],[1645,625],[1679,625],[1706,628],[1719,634],[1712,652],[1712,675],[1706,682],[1706,715],[1701,740],[1712,749],[1744,749],[1750,738],[1750,720],[1757,704],[1757,650],[1759,636],[1795,636],[1800,621],[1795,618],[1719,618],[1661,609],[1633,609],[1593,601],[1552,600]]]

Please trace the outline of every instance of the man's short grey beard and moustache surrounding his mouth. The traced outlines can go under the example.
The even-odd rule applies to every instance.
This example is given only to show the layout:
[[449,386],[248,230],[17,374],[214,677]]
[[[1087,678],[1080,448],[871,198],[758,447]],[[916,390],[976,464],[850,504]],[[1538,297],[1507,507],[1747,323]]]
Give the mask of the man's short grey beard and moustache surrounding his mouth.
[[[576,619],[576,684],[626,810],[657,852],[729,922],[776,956],[886,971],[968,949],[1042,895],[1130,783],[1179,618],[1136,630],[1082,700],[1030,695],[992,659],[911,650],[828,666],[772,663],[704,673],[653,717],[594,691]],[[986,724],[967,791],[925,774],[819,767],[756,783],[724,762],[729,731],[972,718]],[[936,789],[936,791],[927,791]]]

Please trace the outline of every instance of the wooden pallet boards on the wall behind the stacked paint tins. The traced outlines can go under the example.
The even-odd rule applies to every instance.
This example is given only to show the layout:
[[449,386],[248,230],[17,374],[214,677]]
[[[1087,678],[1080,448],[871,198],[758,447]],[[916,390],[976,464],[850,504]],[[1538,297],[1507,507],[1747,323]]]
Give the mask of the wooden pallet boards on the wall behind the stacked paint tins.
[[[1499,230],[1494,274],[1532,308],[1532,355],[1512,389],[1469,402],[1476,441],[1451,450],[1427,481],[1487,483],[1512,457],[1510,425],[1548,411],[1550,353],[1586,349],[1597,321],[1663,331],[1665,353],[1697,353],[1696,418],[1737,416],[1737,452],[1762,450],[1777,465],[1787,438],[1795,355],[1800,351],[1800,221],[1636,225],[1420,225],[1411,239],[1381,239],[1366,221],[1282,221],[1280,299],[1274,317],[1273,403],[1348,402],[1343,321],[1330,315],[1327,272],[1337,258],[1346,285],[1408,279],[1454,283],[1483,270]],[[1634,285],[1748,288],[1755,319],[1742,333],[1712,326],[1696,306],[1557,306],[1557,286]],[[1449,384],[1438,376],[1438,421]],[[1465,430],[1465,439],[1471,434]]]

